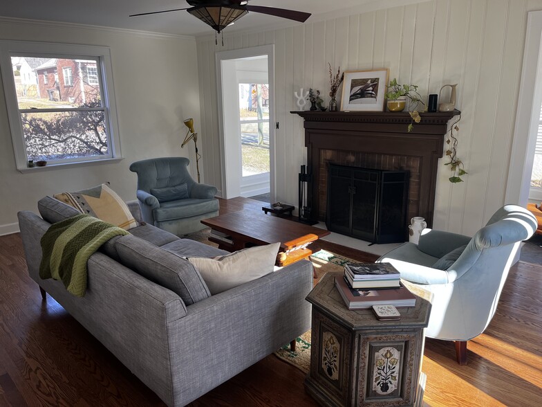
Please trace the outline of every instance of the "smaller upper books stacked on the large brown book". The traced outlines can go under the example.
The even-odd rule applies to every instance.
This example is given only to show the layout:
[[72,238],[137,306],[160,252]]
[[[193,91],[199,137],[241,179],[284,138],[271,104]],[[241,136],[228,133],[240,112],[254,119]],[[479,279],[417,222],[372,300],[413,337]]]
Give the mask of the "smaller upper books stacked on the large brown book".
[[344,277],[353,289],[400,287],[400,273],[390,263],[346,263]]

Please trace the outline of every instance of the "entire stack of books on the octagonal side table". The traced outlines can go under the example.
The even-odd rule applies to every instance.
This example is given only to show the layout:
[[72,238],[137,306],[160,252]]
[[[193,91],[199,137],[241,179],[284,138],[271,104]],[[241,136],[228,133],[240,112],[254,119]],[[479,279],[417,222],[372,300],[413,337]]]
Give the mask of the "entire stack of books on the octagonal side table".
[[[363,288],[359,288],[359,284]],[[416,297],[401,284],[400,273],[389,263],[347,263],[342,278],[335,278],[335,287],[348,309],[416,305]]]

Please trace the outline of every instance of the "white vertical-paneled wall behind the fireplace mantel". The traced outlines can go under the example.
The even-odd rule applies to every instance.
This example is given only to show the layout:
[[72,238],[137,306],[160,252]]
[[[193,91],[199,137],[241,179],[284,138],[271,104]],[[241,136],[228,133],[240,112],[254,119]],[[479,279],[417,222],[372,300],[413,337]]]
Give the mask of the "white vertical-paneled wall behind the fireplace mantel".
[[302,119],[289,113],[297,109],[294,91],[313,87],[327,96],[328,62],[350,71],[387,67],[390,78],[418,84],[426,98],[458,83],[458,157],[469,174],[449,183],[441,159],[433,227],[476,232],[504,203],[527,11],[537,9],[542,0],[434,0],[294,28],[225,30],[224,47],[198,38],[200,75],[208,78],[200,82],[207,181],[221,185],[214,53],[274,44],[277,200],[297,203],[297,173],[306,163]]

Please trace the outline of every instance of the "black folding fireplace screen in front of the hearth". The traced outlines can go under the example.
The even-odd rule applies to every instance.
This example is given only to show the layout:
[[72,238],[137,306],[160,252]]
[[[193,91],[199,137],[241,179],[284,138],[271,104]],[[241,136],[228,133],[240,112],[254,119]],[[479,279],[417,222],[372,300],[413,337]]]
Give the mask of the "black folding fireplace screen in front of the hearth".
[[408,189],[408,171],[330,164],[328,230],[379,244],[404,242]]

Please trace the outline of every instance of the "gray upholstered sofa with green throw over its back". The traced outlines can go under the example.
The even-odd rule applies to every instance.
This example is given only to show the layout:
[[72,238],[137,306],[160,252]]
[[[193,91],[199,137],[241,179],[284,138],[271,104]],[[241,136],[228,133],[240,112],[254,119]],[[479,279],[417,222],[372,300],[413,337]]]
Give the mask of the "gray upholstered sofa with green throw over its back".
[[[138,203],[129,207],[141,219]],[[144,263],[159,269],[171,253],[185,267],[189,262],[178,256],[225,252],[149,224],[114,237],[93,254],[86,295],[72,296],[62,282],[39,278],[39,241],[51,223],[78,212],[50,197],[41,199],[38,208],[41,217],[18,214],[30,277],[169,406],[188,404],[310,328],[305,300],[312,289],[310,262],[215,296],[195,269],[181,270],[183,294],[194,298],[183,300],[185,295],[136,272],[142,262],[127,261],[127,255],[151,253]]]

